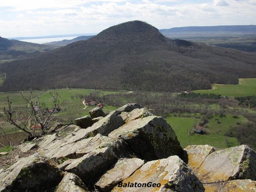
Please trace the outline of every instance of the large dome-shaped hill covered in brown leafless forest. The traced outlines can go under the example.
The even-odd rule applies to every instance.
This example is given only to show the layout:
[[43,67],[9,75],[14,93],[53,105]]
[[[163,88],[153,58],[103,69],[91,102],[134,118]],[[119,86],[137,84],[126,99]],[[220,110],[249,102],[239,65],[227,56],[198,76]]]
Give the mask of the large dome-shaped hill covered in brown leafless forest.
[[171,40],[142,21],[105,29],[47,53],[0,66],[1,90],[52,86],[112,90],[210,89],[256,77],[256,54]]

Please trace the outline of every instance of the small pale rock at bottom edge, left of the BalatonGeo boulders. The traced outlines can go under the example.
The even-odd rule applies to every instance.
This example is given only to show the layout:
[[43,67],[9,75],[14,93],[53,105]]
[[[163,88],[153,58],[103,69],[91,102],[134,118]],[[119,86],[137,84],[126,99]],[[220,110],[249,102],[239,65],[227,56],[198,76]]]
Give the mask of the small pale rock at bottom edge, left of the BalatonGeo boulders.
[[73,173],[65,173],[62,181],[58,185],[56,192],[86,192],[88,188],[82,180]]

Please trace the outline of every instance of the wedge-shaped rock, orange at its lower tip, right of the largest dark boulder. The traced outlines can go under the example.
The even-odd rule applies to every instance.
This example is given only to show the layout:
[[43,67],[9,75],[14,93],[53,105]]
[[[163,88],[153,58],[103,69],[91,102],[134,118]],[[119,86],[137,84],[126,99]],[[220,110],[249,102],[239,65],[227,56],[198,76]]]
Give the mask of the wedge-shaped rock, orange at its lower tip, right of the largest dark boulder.
[[184,149],[188,155],[187,165],[195,172],[206,157],[215,151],[210,145],[190,145]]

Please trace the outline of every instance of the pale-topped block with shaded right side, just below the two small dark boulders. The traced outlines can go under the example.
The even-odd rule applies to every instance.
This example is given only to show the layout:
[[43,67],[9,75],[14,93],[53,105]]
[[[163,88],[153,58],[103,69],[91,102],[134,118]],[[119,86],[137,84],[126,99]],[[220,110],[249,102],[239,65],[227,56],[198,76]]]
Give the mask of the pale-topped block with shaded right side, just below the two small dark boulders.
[[107,136],[113,130],[124,125],[124,120],[118,112],[112,111],[107,116],[94,123],[91,127],[87,128],[87,137],[93,137],[100,133],[101,135]]

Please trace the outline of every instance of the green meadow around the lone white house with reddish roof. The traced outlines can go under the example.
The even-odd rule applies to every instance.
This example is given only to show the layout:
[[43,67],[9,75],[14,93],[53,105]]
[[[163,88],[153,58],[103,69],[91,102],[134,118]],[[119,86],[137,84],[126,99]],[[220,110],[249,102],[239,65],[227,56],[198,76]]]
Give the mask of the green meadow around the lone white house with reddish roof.
[[[219,119],[220,124],[215,119]],[[194,125],[198,125],[200,119],[193,117],[174,117],[172,115],[166,118],[174,129],[177,138],[183,148],[188,145],[211,145],[216,148],[229,148],[237,146],[237,139],[224,136],[224,133],[231,127],[236,125],[236,122],[241,123],[247,121],[246,118],[239,115],[239,119],[235,119],[232,115],[226,117],[213,116],[206,124],[209,130],[207,135],[199,135],[193,133]],[[192,134],[191,134],[192,133]]]

